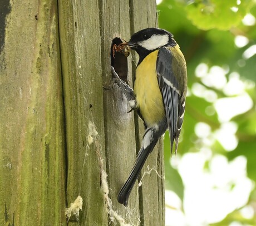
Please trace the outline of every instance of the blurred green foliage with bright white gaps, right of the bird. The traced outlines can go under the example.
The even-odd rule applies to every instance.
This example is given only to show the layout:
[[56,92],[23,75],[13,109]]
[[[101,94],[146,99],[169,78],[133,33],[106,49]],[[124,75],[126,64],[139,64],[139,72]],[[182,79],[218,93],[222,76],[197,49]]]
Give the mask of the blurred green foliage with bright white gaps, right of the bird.
[[157,1],[188,66],[178,154],[165,144],[166,225],[256,225],[256,1]]

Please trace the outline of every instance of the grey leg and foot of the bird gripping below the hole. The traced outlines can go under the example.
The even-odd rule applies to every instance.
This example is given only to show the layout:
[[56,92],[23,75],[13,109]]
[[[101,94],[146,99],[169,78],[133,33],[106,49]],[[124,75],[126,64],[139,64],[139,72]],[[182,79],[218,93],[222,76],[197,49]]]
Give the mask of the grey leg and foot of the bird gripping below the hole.
[[[117,86],[119,86],[119,88],[121,89],[122,93],[125,94],[127,100],[129,101],[129,106],[131,107],[131,111],[136,109],[136,100],[134,97],[134,90],[124,81],[122,81],[122,79],[118,76],[118,74],[116,73],[114,67],[111,67],[111,72],[112,72],[112,76],[114,77],[114,83],[117,84]],[[131,112],[129,111],[129,112]]]

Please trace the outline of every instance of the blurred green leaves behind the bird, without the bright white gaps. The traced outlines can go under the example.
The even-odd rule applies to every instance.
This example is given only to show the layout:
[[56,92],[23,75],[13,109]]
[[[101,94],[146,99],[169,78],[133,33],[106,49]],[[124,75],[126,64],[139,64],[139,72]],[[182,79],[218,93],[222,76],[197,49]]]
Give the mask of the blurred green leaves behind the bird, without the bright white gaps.
[[[242,22],[247,13],[251,13],[255,19],[255,1],[163,0],[157,8],[159,9],[159,27],[167,29],[174,34],[174,38],[179,43],[185,56],[190,91],[194,83],[202,83],[200,78],[195,76],[195,69],[200,63],[205,63],[209,69],[212,66],[227,69],[227,79],[229,79],[230,73],[237,72],[243,82],[250,84],[250,86],[246,86],[245,92],[252,98],[253,108],[232,118],[232,121],[238,124],[236,134],[238,138],[237,148],[232,152],[227,152],[218,140],[215,140],[210,145],[204,143],[200,145],[210,148],[213,155],[215,153],[222,154],[227,156],[229,160],[244,155],[247,158],[248,177],[256,182],[256,54],[249,58],[244,56],[244,52],[255,44],[256,29],[255,24],[254,26],[245,26]],[[237,12],[234,12],[236,10]],[[244,36],[248,38],[249,42],[245,43],[243,47],[238,47],[239,45],[237,46],[235,42],[237,36]],[[227,97],[221,89],[205,88],[214,91],[218,98]],[[213,103],[205,101],[203,97],[196,97],[193,93],[190,93],[190,96],[187,97],[184,124],[178,148],[178,154],[181,155],[181,158],[184,153],[197,152],[201,147],[195,134],[196,123],[204,122],[209,124],[213,133],[220,127],[221,123],[216,113],[212,115],[206,114],[205,109],[208,107],[214,108]],[[166,133],[164,142],[165,175],[168,181],[166,188],[173,190],[183,200],[183,180],[178,170],[171,167],[169,161],[170,143],[168,133]],[[205,168],[207,167],[206,163]],[[255,202],[255,200],[256,190],[254,189],[250,195],[249,202]],[[228,225],[239,218],[240,216],[235,217],[234,213],[230,213],[227,219],[216,225]],[[250,221],[244,220],[243,222],[249,223]]]

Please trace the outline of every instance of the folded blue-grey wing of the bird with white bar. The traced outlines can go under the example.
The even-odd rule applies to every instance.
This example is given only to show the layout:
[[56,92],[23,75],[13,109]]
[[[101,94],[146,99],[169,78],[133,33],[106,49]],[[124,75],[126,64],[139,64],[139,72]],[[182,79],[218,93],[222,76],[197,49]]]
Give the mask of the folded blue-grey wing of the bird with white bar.
[[185,98],[183,97],[183,93],[181,93],[182,91],[180,91],[180,84],[177,80],[177,78],[183,76],[183,74],[179,74],[183,73],[183,70],[180,69],[174,71],[174,60],[173,54],[169,48],[162,47],[159,49],[156,61],[157,79],[163,96],[166,120],[170,135],[171,152],[173,150],[173,141],[175,139],[176,153],[185,112]]

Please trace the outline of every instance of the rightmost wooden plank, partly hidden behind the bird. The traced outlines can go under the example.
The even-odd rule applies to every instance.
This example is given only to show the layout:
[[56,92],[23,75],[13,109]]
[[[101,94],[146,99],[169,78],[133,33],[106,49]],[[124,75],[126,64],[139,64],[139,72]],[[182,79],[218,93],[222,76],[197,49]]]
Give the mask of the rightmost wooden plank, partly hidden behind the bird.
[[[146,6],[146,7],[144,7]],[[131,32],[137,32],[147,27],[157,27],[157,14],[155,1],[132,1],[131,2]],[[135,70],[135,66],[134,66]],[[141,145],[144,126],[137,119],[139,126]],[[165,201],[164,201],[164,154],[163,140],[157,143],[149,155],[141,176],[142,185],[139,189],[140,214],[142,225],[165,225]]]

